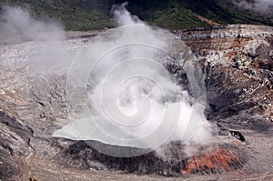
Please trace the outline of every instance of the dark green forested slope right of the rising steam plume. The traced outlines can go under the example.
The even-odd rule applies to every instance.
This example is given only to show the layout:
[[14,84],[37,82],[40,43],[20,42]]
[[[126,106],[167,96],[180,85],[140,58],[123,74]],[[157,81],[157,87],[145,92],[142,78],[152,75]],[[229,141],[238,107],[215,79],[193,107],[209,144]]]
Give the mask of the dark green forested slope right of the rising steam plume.
[[[258,15],[238,8],[241,0],[131,0],[129,10],[140,18],[165,27],[171,22],[171,28],[204,26],[197,20],[201,15],[218,24],[255,24],[273,25],[273,16]],[[168,15],[167,12],[172,12]],[[158,15],[159,16],[156,16]],[[182,17],[174,19],[174,17]],[[163,21],[160,21],[163,20]],[[177,22],[176,22],[177,20]]]

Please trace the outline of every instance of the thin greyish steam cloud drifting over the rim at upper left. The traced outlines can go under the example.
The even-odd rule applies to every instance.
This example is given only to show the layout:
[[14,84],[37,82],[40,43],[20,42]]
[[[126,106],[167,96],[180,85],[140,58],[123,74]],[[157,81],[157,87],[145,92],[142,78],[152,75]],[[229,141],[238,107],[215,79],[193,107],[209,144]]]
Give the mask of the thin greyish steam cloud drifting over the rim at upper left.
[[18,41],[18,38],[36,41],[65,39],[64,30],[56,22],[38,21],[21,7],[3,6],[0,19],[0,39]]

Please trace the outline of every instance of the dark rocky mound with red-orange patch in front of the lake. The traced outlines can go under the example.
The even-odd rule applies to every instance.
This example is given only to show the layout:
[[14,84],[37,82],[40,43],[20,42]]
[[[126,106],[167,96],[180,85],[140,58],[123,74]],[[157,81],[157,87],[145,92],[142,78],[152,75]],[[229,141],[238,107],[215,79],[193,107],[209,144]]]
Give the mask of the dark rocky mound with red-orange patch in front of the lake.
[[[96,143],[106,146],[102,143]],[[132,147],[112,146],[126,152],[136,151]],[[164,155],[152,151],[142,156],[116,157],[107,156],[88,146],[83,141],[66,147],[61,153],[61,165],[94,168],[97,170],[120,170],[126,173],[157,174],[162,176],[179,176],[187,174],[220,174],[243,166],[248,154],[240,146],[204,146],[198,147],[197,156],[187,156],[185,146],[170,143],[164,146]],[[60,157],[60,156],[58,156]]]

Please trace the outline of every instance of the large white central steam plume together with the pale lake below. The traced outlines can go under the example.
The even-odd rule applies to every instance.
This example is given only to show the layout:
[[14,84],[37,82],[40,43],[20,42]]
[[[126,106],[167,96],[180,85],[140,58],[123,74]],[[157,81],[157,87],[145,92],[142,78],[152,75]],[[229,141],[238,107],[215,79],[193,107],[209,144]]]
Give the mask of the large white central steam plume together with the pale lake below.
[[[189,139],[206,143],[212,128],[204,102],[182,91],[162,65],[172,58],[174,37],[145,25],[125,5],[113,8],[120,27],[96,37],[71,66],[67,94],[77,120],[54,136],[151,149]],[[180,61],[193,68],[194,62]],[[193,72],[188,78],[195,79]],[[195,81],[193,91],[201,89]],[[99,151],[119,156],[113,150]]]

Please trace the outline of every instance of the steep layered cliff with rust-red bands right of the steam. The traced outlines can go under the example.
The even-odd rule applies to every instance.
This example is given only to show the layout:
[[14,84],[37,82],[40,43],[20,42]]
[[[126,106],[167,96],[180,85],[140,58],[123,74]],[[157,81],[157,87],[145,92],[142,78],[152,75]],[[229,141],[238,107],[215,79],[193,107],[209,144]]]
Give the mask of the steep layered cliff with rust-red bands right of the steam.
[[206,75],[208,117],[241,113],[273,121],[273,28],[228,25],[178,32]]

